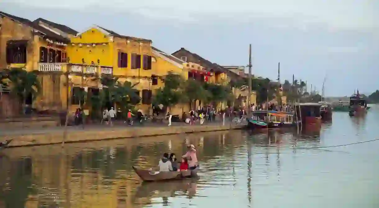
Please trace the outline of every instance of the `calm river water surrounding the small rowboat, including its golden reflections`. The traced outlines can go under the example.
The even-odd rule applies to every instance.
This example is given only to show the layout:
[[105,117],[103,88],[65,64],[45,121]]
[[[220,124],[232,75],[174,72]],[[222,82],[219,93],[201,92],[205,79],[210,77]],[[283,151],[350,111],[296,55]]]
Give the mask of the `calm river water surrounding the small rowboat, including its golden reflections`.
[[[211,132],[1,152],[0,207],[379,207],[379,109],[302,133]],[[198,149],[199,179],[142,183],[132,166]]]

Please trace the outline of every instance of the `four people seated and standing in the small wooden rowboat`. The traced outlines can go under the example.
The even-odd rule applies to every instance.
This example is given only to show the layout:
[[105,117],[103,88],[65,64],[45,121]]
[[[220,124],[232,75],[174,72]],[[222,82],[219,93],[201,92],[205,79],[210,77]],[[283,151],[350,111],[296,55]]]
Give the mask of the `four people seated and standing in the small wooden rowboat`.
[[196,147],[193,144],[187,146],[187,152],[182,156],[179,168],[174,153],[171,153],[170,156],[168,153],[164,153],[163,158],[159,160],[158,167],[160,172],[194,170],[198,167]]

